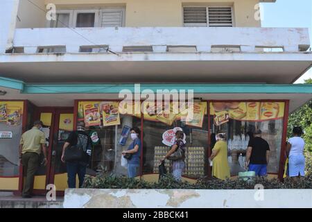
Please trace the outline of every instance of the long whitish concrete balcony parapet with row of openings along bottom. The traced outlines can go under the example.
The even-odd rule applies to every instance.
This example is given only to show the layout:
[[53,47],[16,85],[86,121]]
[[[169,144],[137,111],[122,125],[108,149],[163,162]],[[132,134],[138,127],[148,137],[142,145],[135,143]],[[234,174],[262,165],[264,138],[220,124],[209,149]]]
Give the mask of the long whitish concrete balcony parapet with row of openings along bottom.
[[[277,48],[285,52],[297,52],[306,51],[310,46],[307,28],[221,27],[20,28],[15,31],[13,44],[14,47],[24,48],[24,53],[62,47],[67,53],[78,53],[88,46],[108,46],[116,53],[125,51],[125,47],[131,49],[129,46],[145,46],[141,48],[143,51],[146,49],[146,52],[153,53],[165,53],[170,50],[207,53],[214,48],[232,49],[236,52],[259,52],[259,49],[263,48]],[[148,47],[151,50],[148,50]],[[174,49],[177,47],[180,49]]]

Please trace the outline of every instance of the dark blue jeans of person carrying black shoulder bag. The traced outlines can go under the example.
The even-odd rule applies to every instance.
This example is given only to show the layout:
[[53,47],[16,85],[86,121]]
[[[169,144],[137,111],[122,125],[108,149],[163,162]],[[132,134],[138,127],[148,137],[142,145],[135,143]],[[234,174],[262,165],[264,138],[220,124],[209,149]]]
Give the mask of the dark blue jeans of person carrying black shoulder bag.
[[67,162],[67,183],[69,188],[76,188],[76,175],[78,174],[79,188],[83,187],[87,166],[78,162]]

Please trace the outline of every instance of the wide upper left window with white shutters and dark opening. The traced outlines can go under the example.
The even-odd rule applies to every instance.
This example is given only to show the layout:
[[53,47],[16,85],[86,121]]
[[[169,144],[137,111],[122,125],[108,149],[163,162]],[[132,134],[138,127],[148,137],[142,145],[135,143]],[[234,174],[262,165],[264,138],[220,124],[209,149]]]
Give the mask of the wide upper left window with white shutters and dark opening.
[[124,8],[105,8],[101,10],[58,10],[51,28],[78,27],[117,27],[124,26]]

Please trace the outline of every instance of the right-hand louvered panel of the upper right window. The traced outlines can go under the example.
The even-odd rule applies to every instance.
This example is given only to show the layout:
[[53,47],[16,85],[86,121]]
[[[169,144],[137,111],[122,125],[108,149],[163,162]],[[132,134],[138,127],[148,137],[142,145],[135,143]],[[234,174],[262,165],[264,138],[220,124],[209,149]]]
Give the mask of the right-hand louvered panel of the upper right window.
[[233,26],[231,7],[209,7],[208,17],[209,17],[209,26],[211,27]]

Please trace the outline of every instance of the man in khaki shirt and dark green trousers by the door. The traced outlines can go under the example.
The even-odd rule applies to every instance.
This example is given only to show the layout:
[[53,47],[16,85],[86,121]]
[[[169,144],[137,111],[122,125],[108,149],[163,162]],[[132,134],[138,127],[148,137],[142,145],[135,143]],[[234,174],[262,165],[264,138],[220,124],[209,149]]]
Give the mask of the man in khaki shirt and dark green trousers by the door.
[[42,121],[35,121],[33,128],[21,135],[19,158],[21,158],[21,164],[23,164],[24,172],[26,173],[26,180],[21,194],[23,198],[31,198],[33,180],[40,164],[39,157],[42,150],[44,153],[44,166],[47,163],[46,139],[44,133],[40,130],[42,125]]

